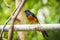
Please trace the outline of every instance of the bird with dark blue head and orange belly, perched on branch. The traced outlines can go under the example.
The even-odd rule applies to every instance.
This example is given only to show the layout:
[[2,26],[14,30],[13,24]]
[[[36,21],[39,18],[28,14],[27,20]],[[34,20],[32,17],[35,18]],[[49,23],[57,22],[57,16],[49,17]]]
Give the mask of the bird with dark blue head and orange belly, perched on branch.
[[[39,23],[39,21],[38,21],[37,17],[35,16],[35,14],[33,14],[30,10],[25,10],[24,12],[25,12],[29,22],[35,23],[35,24]],[[38,31],[42,33],[43,37],[48,37],[48,34],[45,30],[38,30]]]

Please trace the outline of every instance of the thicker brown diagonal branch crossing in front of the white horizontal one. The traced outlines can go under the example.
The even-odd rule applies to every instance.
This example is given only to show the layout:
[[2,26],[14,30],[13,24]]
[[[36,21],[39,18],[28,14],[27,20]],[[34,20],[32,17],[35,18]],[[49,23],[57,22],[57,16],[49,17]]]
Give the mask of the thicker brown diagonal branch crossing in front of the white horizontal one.
[[18,16],[19,12],[21,11],[22,7],[24,6],[24,4],[25,4],[25,0],[22,0],[21,4],[19,5],[19,8],[17,9],[16,13],[12,17],[11,27],[9,28],[9,32],[8,32],[8,40],[12,40],[12,38],[13,38],[14,22]]

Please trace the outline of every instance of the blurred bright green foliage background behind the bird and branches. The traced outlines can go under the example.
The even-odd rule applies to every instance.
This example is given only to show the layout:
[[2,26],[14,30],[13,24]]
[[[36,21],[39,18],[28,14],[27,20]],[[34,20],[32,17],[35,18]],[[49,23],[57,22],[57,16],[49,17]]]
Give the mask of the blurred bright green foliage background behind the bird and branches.
[[[15,7],[15,0],[6,0]],[[33,12],[40,23],[59,24],[60,23],[60,0],[27,0],[24,6],[25,10]],[[10,9],[6,7],[3,0],[0,0],[0,25],[4,24],[11,15]],[[28,40],[60,40],[60,30],[47,30],[49,37],[44,38],[41,33],[29,31],[27,33]],[[7,39],[7,32],[4,32],[4,40]],[[13,40],[17,39],[17,33],[14,32]]]

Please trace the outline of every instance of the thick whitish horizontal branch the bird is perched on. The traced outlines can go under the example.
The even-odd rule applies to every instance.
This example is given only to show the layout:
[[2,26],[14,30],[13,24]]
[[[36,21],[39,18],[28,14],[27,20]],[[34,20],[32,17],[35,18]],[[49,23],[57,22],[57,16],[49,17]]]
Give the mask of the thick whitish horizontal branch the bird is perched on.
[[[14,25],[14,31],[31,31],[35,30],[36,25],[39,27],[39,29],[46,29],[46,30],[55,30],[60,29],[60,24],[22,24],[22,25]],[[2,30],[3,25],[0,25],[0,30]],[[10,25],[7,25],[4,28],[4,31],[8,31],[10,28]]]

